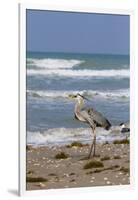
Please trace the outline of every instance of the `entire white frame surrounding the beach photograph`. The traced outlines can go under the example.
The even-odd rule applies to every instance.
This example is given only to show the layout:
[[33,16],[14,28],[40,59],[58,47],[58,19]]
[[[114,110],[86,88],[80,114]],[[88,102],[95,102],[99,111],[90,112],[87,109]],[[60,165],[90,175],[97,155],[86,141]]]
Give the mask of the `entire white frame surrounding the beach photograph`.
[[[59,195],[61,192],[65,195],[70,193],[84,194],[97,191],[122,191],[134,188],[134,135],[131,137],[131,154],[130,154],[130,185],[127,186],[97,186],[97,187],[84,187],[84,188],[69,188],[69,189],[50,189],[50,190],[36,190],[26,191],[26,9],[36,10],[51,10],[51,11],[69,11],[69,12],[82,12],[82,13],[105,13],[105,14],[121,14],[130,16],[130,127],[131,132],[134,133],[134,11],[124,9],[101,9],[92,8],[87,5],[59,5],[56,3],[47,3],[45,5],[38,4],[21,4],[19,5],[19,195]],[[132,103],[133,101],[133,103]]]

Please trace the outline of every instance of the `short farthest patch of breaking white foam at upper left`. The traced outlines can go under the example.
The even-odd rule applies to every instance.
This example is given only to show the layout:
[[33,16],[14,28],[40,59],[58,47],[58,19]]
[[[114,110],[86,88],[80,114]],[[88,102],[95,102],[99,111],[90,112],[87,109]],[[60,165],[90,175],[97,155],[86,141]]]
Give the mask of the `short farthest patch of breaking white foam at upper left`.
[[69,69],[76,65],[79,65],[83,63],[83,60],[65,60],[65,59],[27,59],[27,65],[28,66],[34,66],[36,68],[42,68],[42,69]]

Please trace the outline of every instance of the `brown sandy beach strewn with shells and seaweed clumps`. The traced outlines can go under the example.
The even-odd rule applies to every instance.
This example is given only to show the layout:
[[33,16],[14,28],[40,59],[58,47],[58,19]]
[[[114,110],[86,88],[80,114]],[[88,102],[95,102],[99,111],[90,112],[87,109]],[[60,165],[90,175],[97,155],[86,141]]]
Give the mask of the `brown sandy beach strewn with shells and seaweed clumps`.
[[27,190],[128,185],[129,141],[97,144],[96,157],[86,156],[89,145],[27,146]]

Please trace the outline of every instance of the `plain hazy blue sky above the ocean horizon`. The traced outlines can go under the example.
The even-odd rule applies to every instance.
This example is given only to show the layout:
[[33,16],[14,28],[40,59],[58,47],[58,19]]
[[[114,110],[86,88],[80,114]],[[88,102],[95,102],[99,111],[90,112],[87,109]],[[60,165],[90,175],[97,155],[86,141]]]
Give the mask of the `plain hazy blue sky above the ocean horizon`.
[[129,16],[27,10],[27,50],[129,54]]

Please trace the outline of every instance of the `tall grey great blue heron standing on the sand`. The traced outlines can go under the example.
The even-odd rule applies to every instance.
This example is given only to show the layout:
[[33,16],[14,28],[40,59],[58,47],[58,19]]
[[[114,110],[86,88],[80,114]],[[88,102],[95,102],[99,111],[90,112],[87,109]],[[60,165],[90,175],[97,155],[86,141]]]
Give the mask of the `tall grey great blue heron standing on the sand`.
[[95,156],[95,149],[96,149],[96,127],[103,127],[106,130],[109,130],[111,127],[110,122],[100,113],[97,112],[93,108],[84,107],[84,100],[88,100],[84,96],[77,94],[71,95],[71,98],[76,99],[74,114],[75,118],[81,122],[86,122],[90,125],[93,133],[93,141],[91,144],[90,152],[88,155],[88,159],[91,157],[91,153],[93,150],[93,156]]

